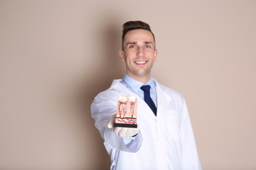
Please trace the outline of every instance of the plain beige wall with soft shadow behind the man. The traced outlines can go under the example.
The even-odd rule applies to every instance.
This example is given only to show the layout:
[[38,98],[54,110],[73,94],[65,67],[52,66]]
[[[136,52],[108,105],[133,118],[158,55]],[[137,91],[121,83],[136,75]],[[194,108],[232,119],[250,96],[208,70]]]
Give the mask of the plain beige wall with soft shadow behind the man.
[[0,1],[0,169],[109,169],[90,105],[148,22],[153,76],[184,95],[203,169],[256,169],[256,1]]

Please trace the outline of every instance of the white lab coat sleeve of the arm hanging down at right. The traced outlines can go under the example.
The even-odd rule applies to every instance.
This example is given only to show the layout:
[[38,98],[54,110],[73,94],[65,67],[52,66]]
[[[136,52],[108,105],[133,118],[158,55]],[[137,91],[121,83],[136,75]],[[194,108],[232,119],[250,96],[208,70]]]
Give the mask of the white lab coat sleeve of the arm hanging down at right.
[[202,167],[185,101],[182,105],[181,141],[183,169],[201,170]]

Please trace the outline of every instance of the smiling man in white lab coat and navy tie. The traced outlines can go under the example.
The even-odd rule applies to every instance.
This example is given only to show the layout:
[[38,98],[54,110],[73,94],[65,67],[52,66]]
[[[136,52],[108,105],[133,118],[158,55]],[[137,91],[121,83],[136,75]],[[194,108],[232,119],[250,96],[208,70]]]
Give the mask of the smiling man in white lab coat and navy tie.
[[[119,55],[126,65],[123,80],[114,80],[91,105],[95,126],[111,156],[110,169],[202,169],[183,97],[151,76],[158,50],[150,25],[123,24]],[[150,85],[150,99],[146,85]],[[137,97],[137,128],[114,127],[122,95]]]

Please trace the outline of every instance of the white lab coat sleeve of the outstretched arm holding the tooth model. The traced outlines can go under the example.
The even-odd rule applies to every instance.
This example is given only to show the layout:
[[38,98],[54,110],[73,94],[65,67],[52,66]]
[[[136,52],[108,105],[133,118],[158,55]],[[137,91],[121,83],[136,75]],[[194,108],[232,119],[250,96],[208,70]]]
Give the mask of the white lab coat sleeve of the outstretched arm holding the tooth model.
[[105,145],[109,148],[125,152],[137,152],[142,143],[142,136],[139,133],[131,143],[125,145],[123,138],[114,133],[113,129],[108,128],[108,120],[113,114],[116,114],[116,107],[119,94],[114,92],[99,93],[91,105],[91,114],[95,119],[95,127],[100,131]]

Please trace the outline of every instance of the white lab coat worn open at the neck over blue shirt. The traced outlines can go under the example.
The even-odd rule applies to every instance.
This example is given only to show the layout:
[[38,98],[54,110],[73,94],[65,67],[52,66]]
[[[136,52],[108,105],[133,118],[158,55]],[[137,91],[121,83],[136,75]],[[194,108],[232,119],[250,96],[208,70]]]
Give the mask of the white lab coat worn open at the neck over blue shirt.
[[[202,169],[183,97],[154,81],[158,98],[157,116],[139,95],[121,84],[121,79],[114,80],[108,90],[95,97],[91,112],[111,156],[110,169]],[[136,96],[138,101],[140,133],[127,146],[107,127],[110,117],[116,114],[117,100],[121,95]]]

